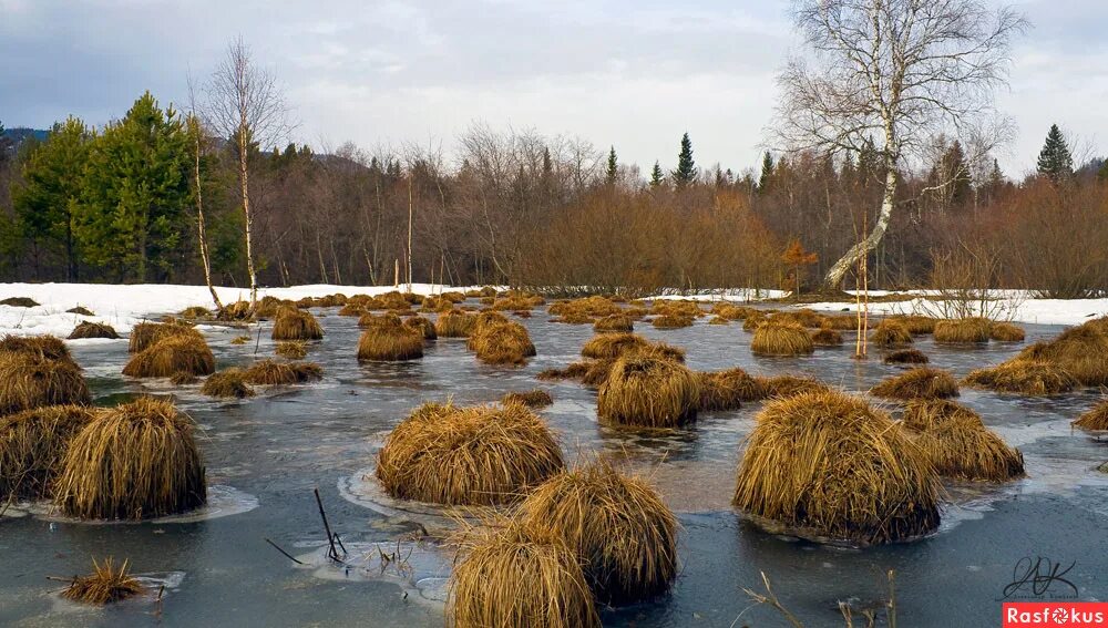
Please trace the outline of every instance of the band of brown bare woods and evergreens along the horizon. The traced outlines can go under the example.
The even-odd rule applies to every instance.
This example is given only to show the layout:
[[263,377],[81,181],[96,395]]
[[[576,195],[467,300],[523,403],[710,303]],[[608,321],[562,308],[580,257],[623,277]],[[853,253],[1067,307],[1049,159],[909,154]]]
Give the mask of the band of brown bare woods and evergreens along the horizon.
[[[647,173],[618,147],[482,125],[449,159],[418,146],[247,144],[268,286],[391,285],[410,268],[416,281],[562,292],[811,289],[872,228],[885,176],[864,147],[704,167],[688,135],[675,137],[674,169]],[[931,163],[900,173],[871,289],[933,285],[938,266],[968,259],[998,287],[1108,290],[1102,161],[1075,165],[1054,127],[1038,172],[1013,181],[987,155],[934,144]],[[0,133],[0,280],[202,284],[203,207],[213,281],[248,286],[238,164],[238,143],[148,93],[100,128],[71,117]],[[855,282],[858,271],[844,285]]]

